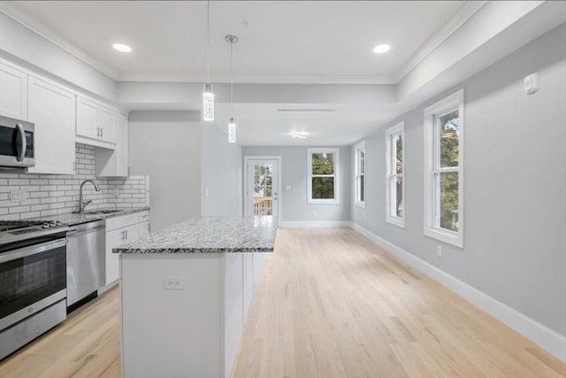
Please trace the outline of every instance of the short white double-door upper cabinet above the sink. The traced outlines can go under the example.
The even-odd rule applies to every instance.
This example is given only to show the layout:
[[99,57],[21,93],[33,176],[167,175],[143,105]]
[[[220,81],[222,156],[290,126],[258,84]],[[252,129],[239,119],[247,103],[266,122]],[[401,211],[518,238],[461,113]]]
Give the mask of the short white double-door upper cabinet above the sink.
[[77,142],[114,149],[117,114],[90,98],[77,96]]

